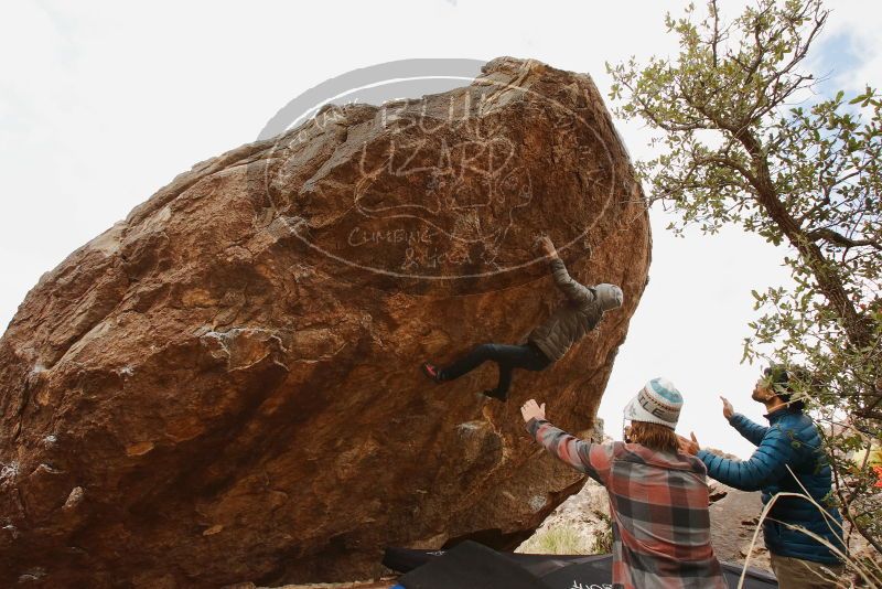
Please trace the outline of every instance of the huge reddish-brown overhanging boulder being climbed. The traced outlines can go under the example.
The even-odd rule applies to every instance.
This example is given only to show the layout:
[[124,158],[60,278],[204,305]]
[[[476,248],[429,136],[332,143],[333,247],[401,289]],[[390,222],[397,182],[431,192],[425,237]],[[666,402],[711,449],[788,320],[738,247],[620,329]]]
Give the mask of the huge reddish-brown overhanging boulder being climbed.
[[[622,286],[561,362],[435,386],[571,274]],[[585,75],[331,107],[195,165],[74,251],[0,340],[0,586],[366,578],[387,545],[512,549],[580,488],[518,407],[592,425],[647,279],[643,195]]]

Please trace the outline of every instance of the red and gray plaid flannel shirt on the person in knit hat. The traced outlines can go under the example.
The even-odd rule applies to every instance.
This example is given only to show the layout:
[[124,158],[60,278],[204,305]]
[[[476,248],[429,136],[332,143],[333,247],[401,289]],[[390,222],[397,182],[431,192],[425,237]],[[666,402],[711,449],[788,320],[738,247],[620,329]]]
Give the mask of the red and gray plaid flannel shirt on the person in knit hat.
[[638,443],[591,443],[530,419],[546,450],[606,488],[613,587],[725,589],[710,545],[707,469],[697,458]]

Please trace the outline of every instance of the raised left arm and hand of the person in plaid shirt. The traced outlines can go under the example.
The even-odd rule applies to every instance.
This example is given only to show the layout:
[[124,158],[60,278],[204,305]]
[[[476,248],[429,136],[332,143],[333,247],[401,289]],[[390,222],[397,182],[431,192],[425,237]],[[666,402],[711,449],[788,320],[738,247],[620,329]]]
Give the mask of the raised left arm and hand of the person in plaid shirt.
[[611,445],[591,443],[556,428],[545,418],[545,404],[539,407],[533,399],[521,407],[520,413],[527,431],[549,453],[605,484],[612,461]]

